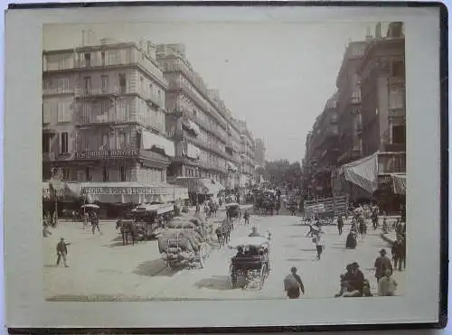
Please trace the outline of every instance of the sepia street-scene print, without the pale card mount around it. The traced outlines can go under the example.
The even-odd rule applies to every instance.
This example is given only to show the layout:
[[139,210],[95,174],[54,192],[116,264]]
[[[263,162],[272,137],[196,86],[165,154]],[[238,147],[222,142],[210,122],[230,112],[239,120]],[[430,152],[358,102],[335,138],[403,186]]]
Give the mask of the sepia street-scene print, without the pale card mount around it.
[[47,301],[405,294],[405,24],[263,25],[42,26]]

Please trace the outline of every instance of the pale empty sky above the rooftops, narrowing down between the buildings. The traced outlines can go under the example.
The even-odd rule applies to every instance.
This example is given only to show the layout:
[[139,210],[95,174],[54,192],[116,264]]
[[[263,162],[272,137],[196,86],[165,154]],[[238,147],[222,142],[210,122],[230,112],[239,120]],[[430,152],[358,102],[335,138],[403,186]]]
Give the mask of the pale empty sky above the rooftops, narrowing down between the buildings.
[[[115,23],[43,27],[43,49],[89,42],[185,44],[187,59],[209,88],[218,88],[232,115],[264,139],[267,159],[301,162],[306,134],[335,92],[348,42],[375,23]],[[385,24],[383,24],[383,27]],[[382,33],[385,33],[383,30]]]

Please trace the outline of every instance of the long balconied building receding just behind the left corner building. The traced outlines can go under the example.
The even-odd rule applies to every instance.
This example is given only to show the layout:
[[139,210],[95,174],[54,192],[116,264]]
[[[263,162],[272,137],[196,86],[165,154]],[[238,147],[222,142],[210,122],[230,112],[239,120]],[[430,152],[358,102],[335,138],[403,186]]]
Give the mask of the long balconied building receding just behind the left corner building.
[[240,128],[218,91],[207,88],[184,44],[159,44],[156,60],[168,82],[166,131],[175,144],[174,177],[208,178],[229,188],[240,180]]

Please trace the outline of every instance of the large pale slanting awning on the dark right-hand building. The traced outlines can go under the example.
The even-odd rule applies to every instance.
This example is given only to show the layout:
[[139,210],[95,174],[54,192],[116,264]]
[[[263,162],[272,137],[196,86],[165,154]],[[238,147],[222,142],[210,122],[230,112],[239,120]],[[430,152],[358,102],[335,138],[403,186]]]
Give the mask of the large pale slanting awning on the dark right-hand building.
[[378,189],[378,154],[372,154],[341,166],[345,180],[353,182],[365,191],[373,193]]

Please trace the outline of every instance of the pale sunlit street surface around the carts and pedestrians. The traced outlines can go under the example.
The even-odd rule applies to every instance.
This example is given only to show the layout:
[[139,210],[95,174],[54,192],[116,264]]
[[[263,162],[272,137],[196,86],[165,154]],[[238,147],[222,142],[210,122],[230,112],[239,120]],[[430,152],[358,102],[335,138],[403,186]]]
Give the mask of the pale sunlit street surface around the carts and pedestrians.
[[[215,220],[220,220],[221,216]],[[305,237],[307,226],[300,218],[268,216],[251,218],[245,227],[236,224],[231,239],[246,236],[251,226],[260,233],[272,231],[271,273],[262,290],[231,289],[229,265],[234,251],[212,249],[205,268],[172,271],[158,253],[156,241],[122,246],[114,222],[101,223],[102,235],[92,235],[79,223],[63,222],[44,238],[45,297],[51,300],[155,300],[155,299],[278,299],[284,298],[283,278],[291,266],[297,266],[306,287],[306,298],[332,297],[339,290],[339,275],[345,265],[357,261],[366,278],[376,283],[371,270],[378,251],[390,247],[380,237],[380,230],[370,229],[354,250],[345,249],[345,234],[339,236],[334,226],[325,227],[325,251],[315,260],[315,246]],[[347,231],[345,226],[344,231]],[[55,267],[55,245],[64,237],[69,246],[69,265]],[[403,294],[405,273],[395,272],[398,294]]]

